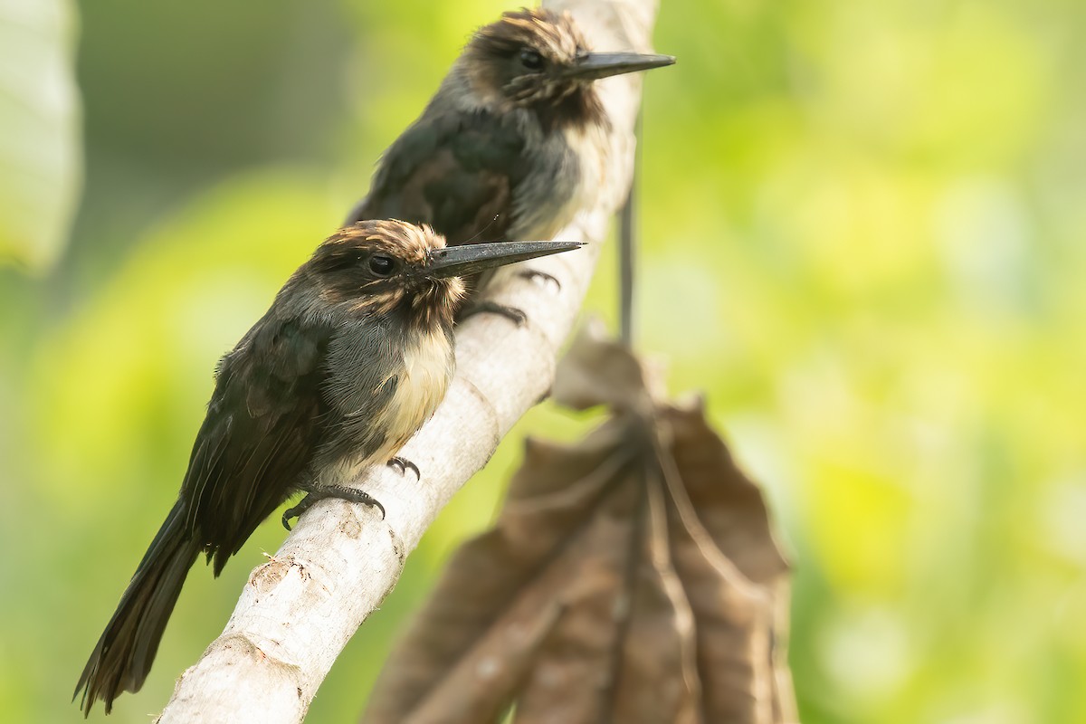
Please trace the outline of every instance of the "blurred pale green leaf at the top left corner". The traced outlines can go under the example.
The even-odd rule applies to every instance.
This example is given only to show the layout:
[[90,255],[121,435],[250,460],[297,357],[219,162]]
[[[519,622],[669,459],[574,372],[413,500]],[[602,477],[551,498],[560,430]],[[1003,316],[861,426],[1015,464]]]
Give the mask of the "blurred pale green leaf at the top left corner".
[[0,0],[0,263],[60,256],[81,172],[68,0]]

